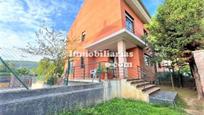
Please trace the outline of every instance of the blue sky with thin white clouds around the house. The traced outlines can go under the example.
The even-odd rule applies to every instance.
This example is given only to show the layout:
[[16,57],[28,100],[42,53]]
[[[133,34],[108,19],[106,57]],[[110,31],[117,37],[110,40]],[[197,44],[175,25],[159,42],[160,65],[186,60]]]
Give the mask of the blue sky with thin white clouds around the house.
[[[151,15],[163,0],[143,0]],[[18,48],[34,43],[42,26],[68,32],[83,0],[0,0],[0,56],[7,60],[39,61],[41,56],[25,54]]]

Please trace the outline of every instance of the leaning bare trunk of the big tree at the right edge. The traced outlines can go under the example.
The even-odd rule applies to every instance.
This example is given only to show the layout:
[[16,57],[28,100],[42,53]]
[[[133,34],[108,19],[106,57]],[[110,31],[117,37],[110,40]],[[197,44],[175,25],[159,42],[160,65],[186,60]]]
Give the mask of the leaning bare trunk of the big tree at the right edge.
[[193,77],[195,79],[196,90],[198,92],[198,99],[201,99],[201,98],[204,97],[204,95],[203,95],[203,91],[202,91],[200,75],[198,74],[198,70],[197,70],[197,67],[196,67],[196,64],[195,64],[194,60],[189,62],[189,65],[190,65],[192,75],[193,75]]

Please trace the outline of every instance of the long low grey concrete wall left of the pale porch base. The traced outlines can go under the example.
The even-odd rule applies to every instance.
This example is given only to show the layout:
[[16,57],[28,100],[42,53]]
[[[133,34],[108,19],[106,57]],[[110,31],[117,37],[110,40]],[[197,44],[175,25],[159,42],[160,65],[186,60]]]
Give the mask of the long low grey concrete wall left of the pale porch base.
[[100,83],[0,93],[0,115],[45,115],[103,101]]

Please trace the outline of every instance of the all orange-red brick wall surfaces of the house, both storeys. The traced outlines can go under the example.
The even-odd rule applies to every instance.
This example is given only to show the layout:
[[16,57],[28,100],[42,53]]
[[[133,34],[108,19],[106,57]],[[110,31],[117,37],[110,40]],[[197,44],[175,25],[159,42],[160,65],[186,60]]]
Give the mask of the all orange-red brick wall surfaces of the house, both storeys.
[[[79,41],[74,43],[77,44],[78,51],[85,51],[87,45],[125,28],[125,11],[134,18],[135,34],[140,37],[144,34],[144,24],[125,3],[125,0],[84,0],[78,15],[69,30],[68,38],[70,40],[80,40],[82,32],[86,31],[85,40],[83,42]],[[133,49],[133,51],[135,52],[134,57],[129,58],[128,60],[132,61],[134,66],[143,65],[144,60],[142,49],[136,48]],[[90,70],[96,68],[96,65],[93,65],[92,63],[109,61],[108,58],[86,58],[85,60],[85,64],[87,65],[87,67],[85,67],[86,76],[90,74]],[[84,74],[84,71],[80,68],[80,59],[75,58],[74,63],[78,68],[75,71],[75,77],[80,77]]]

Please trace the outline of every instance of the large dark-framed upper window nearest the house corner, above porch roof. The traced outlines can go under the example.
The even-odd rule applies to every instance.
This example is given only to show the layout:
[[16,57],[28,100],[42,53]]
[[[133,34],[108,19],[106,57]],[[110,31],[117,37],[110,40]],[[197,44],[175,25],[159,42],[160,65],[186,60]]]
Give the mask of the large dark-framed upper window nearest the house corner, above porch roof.
[[126,29],[134,33],[134,19],[127,12],[125,12]]

